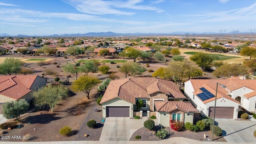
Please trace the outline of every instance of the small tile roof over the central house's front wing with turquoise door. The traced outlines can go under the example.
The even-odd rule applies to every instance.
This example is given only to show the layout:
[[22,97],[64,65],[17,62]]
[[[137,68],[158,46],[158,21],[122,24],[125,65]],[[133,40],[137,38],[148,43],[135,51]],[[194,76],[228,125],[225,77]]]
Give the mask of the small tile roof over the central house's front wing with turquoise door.
[[197,112],[197,109],[191,104],[191,102],[182,101],[156,101],[154,102],[157,112],[172,112],[174,110],[180,110],[182,112]]

